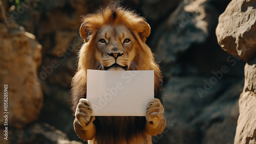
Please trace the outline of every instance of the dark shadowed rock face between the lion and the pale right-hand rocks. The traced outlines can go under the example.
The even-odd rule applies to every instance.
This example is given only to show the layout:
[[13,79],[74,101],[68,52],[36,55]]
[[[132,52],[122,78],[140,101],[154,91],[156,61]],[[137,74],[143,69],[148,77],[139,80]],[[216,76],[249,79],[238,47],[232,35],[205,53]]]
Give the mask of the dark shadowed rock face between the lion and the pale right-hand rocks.
[[244,83],[234,69],[243,64],[216,49],[212,35],[225,2],[216,3],[183,1],[157,27],[151,47],[166,78],[167,126],[154,143],[233,143]]

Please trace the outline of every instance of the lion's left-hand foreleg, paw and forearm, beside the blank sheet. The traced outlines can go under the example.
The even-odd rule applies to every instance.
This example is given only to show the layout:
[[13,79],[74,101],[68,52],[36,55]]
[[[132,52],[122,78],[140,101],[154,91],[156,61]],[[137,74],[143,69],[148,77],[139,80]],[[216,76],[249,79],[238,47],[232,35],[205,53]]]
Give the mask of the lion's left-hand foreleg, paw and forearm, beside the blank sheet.
[[83,140],[93,139],[96,128],[93,124],[95,116],[91,116],[92,107],[87,99],[80,99],[75,113],[74,129],[76,134]]

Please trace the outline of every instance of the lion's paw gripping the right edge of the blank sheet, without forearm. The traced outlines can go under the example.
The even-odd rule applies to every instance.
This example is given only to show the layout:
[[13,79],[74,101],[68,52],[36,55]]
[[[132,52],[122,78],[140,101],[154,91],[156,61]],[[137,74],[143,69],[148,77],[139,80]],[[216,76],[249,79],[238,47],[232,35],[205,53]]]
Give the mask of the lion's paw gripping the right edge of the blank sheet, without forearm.
[[146,108],[146,121],[156,127],[163,115],[163,105],[158,99],[151,100]]

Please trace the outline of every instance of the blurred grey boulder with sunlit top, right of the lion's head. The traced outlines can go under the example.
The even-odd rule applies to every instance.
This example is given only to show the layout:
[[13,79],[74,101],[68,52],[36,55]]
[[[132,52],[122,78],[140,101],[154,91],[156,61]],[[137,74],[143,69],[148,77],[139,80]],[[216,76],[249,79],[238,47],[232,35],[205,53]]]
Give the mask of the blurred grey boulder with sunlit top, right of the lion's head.
[[183,1],[169,14],[156,30],[151,43],[156,52],[156,61],[161,61],[160,66],[165,76],[172,74],[171,68],[180,54],[186,52],[192,44],[207,39],[216,23],[215,18],[216,12],[206,0]]

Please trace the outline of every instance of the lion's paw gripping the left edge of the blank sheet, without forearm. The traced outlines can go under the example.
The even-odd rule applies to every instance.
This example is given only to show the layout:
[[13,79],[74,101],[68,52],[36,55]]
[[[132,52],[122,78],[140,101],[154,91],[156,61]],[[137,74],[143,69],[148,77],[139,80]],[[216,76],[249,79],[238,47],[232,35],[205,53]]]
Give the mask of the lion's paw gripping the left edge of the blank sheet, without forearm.
[[91,116],[92,108],[91,103],[87,99],[80,99],[76,107],[75,116],[79,124],[85,128],[91,121],[94,120],[94,116]]

